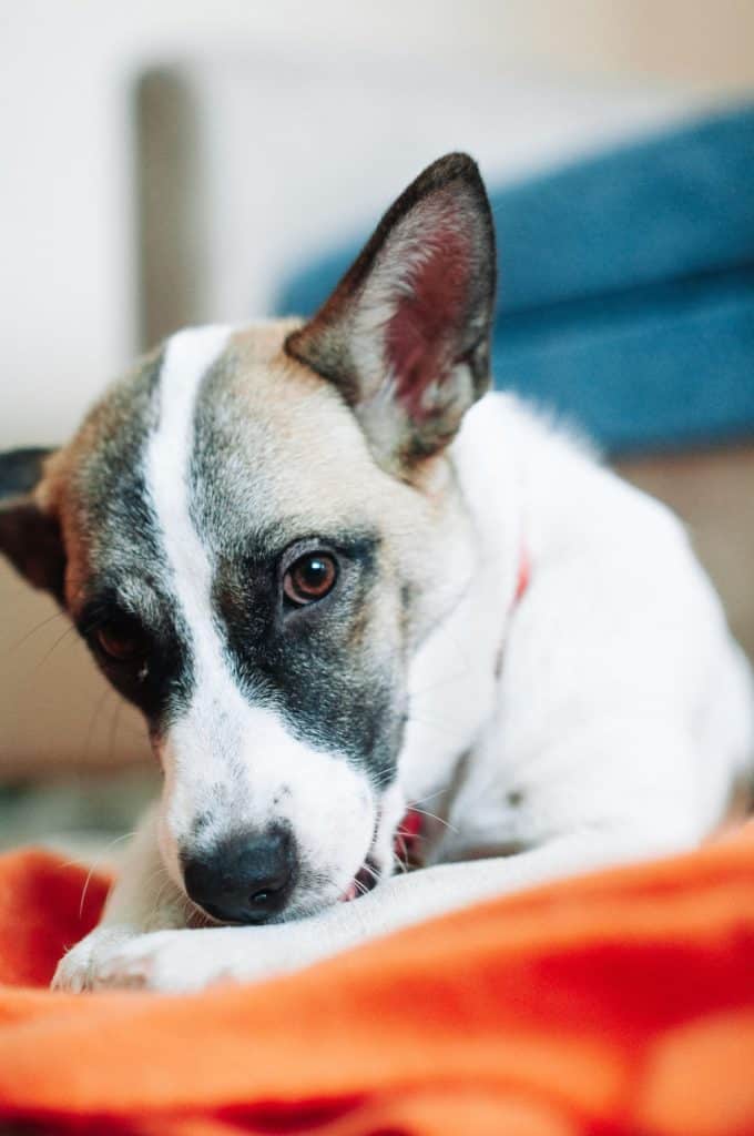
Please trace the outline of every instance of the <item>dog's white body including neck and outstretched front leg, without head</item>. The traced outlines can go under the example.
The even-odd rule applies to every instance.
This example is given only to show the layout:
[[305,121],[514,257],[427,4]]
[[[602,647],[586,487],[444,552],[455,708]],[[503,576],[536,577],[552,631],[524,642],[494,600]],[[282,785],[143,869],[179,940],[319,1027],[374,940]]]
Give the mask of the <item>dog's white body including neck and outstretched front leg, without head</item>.
[[[453,460],[476,567],[413,660],[400,763],[410,800],[447,807],[434,866],[282,926],[116,943],[106,927],[60,985],[262,978],[476,899],[693,846],[719,821],[751,774],[754,698],[682,527],[510,398],[470,411]],[[512,604],[523,544],[531,580]]]

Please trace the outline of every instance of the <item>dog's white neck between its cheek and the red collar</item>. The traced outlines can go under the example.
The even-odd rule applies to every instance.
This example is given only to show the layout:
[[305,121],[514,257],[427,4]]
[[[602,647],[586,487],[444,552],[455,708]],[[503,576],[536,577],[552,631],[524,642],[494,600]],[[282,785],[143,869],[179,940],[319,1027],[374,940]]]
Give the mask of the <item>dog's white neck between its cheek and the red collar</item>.
[[[521,585],[526,509],[497,400],[467,416],[451,451],[468,517],[470,578],[418,649],[409,671],[409,720],[400,779],[409,802],[438,811],[495,709],[509,620]],[[466,645],[464,645],[466,644]]]

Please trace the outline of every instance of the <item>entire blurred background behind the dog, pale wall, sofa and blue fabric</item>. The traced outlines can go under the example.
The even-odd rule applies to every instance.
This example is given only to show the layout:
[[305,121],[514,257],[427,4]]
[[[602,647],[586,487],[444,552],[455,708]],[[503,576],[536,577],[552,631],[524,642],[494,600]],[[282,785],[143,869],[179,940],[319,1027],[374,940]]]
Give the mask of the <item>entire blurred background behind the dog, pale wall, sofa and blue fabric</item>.
[[[305,315],[470,151],[496,384],[680,511],[754,652],[754,0],[0,0],[0,449],[186,323]],[[0,565],[0,847],[100,854],[153,778]]]

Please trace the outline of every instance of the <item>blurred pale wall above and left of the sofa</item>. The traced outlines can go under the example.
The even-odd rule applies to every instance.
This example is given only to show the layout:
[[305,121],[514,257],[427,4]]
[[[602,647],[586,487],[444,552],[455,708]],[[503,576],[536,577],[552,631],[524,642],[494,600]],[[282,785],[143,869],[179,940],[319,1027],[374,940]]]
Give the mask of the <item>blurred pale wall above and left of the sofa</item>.
[[0,0],[0,448],[65,437],[132,354],[133,75],[291,39],[754,83],[751,0]]

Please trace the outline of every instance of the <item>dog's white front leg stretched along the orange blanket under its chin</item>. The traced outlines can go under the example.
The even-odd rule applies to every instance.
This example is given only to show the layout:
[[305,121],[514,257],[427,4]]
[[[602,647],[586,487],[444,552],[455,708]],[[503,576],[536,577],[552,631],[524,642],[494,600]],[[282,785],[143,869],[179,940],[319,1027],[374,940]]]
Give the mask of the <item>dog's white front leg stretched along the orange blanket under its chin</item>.
[[260,980],[478,900],[675,846],[646,833],[579,833],[516,857],[394,876],[354,902],[296,922],[157,932],[111,952],[92,985],[187,991]]

